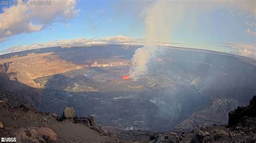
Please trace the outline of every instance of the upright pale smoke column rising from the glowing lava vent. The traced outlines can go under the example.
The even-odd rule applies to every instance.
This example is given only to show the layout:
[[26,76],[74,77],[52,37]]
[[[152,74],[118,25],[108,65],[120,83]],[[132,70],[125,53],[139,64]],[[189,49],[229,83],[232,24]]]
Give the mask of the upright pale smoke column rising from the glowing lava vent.
[[133,67],[130,69],[130,77],[137,80],[147,74],[149,61],[157,50],[157,41],[168,41],[171,30],[170,19],[166,13],[170,12],[167,1],[157,1],[145,9],[145,39],[144,46],[136,49],[132,57]]

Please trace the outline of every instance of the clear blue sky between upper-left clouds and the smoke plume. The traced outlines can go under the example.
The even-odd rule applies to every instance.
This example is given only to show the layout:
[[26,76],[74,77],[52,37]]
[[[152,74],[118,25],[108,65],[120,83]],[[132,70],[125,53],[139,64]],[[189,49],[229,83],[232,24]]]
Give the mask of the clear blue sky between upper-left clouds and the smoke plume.
[[[1,1],[1,0],[0,0]],[[114,1],[79,1],[79,15],[64,23],[52,23],[40,32],[17,34],[0,44],[0,50],[14,45],[32,44],[52,40],[74,38],[99,38],[114,35],[143,37],[143,23],[137,25],[136,33],[131,31],[132,18],[117,17],[113,12]],[[1,13],[4,6],[0,5]],[[67,26],[70,25],[70,26]]]

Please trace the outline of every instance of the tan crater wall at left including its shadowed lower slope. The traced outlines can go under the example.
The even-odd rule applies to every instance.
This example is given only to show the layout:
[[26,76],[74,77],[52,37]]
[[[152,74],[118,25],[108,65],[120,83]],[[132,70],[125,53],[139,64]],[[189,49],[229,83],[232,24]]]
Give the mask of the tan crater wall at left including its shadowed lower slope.
[[[33,81],[35,78],[89,67],[126,65],[128,65],[126,60],[116,60],[114,58],[112,60],[93,59],[84,61],[84,63],[73,63],[60,58],[60,55],[53,52],[29,53],[24,56],[0,59],[0,94],[14,95],[15,99],[21,99],[28,105],[40,103],[44,85],[35,83]],[[12,98],[8,96],[4,98],[12,101]],[[16,105],[16,103],[12,105]]]

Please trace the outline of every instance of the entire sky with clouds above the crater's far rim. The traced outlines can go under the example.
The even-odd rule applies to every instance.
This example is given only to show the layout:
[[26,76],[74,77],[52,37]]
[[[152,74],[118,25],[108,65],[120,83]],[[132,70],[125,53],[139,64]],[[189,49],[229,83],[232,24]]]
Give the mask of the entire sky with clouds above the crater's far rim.
[[[138,42],[146,39],[147,26],[156,26],[153,32],[159,38],[153,40],[169,42],[171,46],[256,59],[256,1],[169,0],[165,1],[165,10],[156,9],[153,13],[148,9],[158,1],[48,0],[49,5],[32,5],[29,0],[25,5],[21,1],[1,5],[1,1],[2,53],[56,43]],[[150,23],[154,24],[147,23],[151,15],[154,17]]]

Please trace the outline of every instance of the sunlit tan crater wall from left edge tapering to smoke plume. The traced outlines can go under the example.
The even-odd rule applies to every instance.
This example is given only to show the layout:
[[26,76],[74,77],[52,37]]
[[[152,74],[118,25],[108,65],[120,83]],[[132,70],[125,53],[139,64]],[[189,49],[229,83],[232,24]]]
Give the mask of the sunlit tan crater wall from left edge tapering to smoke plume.
[[87,60],[84,63],[65,61],[54,53],[31,53],[10,59],[0,59],[0,74],[7,75],[12,81],[18,81],[32,88],[43,88],[33,82],[35,78],[56,75],[67,71],[88,67],[127,66],[129,61],[120,59]]

